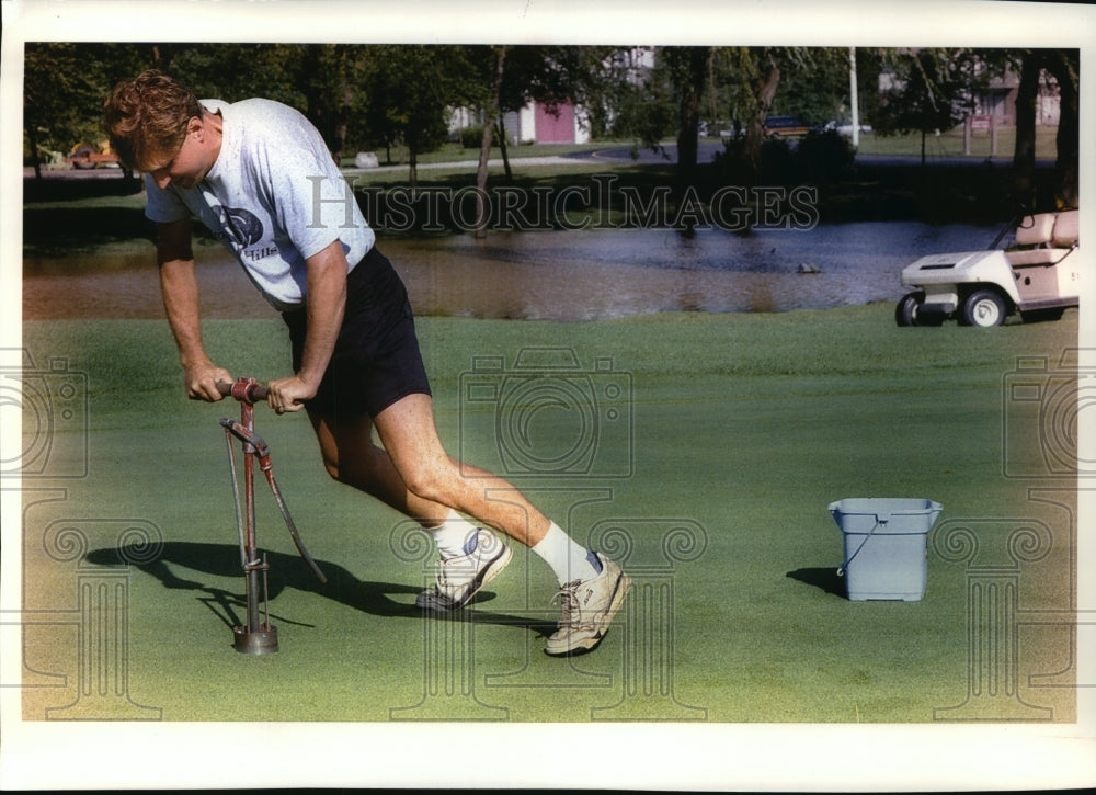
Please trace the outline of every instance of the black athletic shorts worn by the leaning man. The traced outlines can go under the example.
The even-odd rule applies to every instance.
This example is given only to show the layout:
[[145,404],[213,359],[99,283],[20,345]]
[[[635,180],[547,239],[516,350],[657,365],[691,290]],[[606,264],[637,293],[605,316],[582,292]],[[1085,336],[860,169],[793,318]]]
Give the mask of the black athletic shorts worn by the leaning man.
[[[304,308],[283,313],[300,370],[308,330]],[[336,420],[376,417],[400,398],[430,395],[407,288],[376,247],[346,277],[346,311],[334,353],[308,408]]]

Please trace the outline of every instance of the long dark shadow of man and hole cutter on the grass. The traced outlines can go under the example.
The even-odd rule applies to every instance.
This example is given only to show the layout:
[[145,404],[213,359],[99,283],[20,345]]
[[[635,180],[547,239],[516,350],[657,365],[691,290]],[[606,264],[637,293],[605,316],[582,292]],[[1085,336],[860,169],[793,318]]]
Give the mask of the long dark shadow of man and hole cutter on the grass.
[[[390,582],[370,582],[359,580],[345,568],[327,560],[317,560],[320,569],[328,578],[327,584],[308,570],[305,563],[294,555],[277,552],[264,553],[269,572],[269,599],[274,600],[282,591],[293,588],[298,591],[317,593],[332,599],[354,610],[370,615],[393,618],[429,617],[431,621],[473,621],[481,624],[499,624],[503,626],[520,626],[548,637],[556,632],[556,625],[547,621],[538,621],[525,616],[506,615],[503,613],[473,610],[471,612],[456,611],[454,613],[426,613],[414,605],[413,597],[420,588]],[[130,565],[151,575],[170,590],[193,590],[199,595],[198,601],[212,610],[227,626],[239,626],[244,623],[242,616],[247,613],[244,600],[243,573],[240,565],[240,547],[228,544],[208,544],[196,542],[167,542],[159,547],[159,554],[149,559],[147,546],[106,547],[93,549],[84,559],[96,566]],[[175,568],[189,569],[192,575],[176,573]],[[197,579],[191,579],[197,575]],[[202,581],[201,576],[239,577],[239,592],[227,591]],[[393,594],[403,594],[408,602],[398,601]],[[480,591],[472,600],[471,606],[494,599],[491,592]],[[277,618],[290,624],[300,624],[271,613]]]

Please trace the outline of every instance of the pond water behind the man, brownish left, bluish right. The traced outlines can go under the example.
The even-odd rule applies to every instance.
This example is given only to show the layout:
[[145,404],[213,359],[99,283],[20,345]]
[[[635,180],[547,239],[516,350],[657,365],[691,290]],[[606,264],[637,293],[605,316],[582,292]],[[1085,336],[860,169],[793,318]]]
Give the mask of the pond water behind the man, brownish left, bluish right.
[[[987,247],[996,227],[914,222],[808,231],[583,229],[436,238],[381,236],[415,313],[590,320],[663,311],[788,311],[897,300],[902,269],[927,253]],[[270,317],[240,266],[199,248],[206,317]],[[151,246],[23,263],[26,319],[160,318]]]

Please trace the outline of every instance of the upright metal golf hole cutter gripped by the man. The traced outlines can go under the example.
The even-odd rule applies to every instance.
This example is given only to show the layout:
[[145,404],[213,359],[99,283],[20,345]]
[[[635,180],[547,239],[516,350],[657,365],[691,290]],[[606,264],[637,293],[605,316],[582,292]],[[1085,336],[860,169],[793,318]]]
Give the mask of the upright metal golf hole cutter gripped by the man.
[[[320,580],[327,582],[320,567],[308,554],[297,527],[293,523],[289,510],[274,480],[274,467],[271,464],[270,446],[255,433],[254,404],[266,399],[266,387],[254,378],[240,378],[233,384],[219,384],[221,395],[231,397],[240,404],[240,421],[221,418],[225,428],[225,442],[228,445],[228,461],[232,472],[232,496],[236,500],[236,523],[240,533],[240,564],[243,567],[243,583],[248,602],[248,618],[244,626],[232,627],[232,647],[246,655],[269,655],[277,651],[277,627],[270,623],[270,598],[267,572],[270,565],[265,554],[260,557],[255,540],[255,464],[266,476],[266,482],[274,495],[278,510],[285,519],[286,527],[293,543],[297,546],[300,557]],[[232,438],[240,440],[243,450],[243,500],[240,500],[240,479],[237,473],[236,452]],[[261,586],[261,588],[260,588]],[[260,610],[260,603],[262,609]]]

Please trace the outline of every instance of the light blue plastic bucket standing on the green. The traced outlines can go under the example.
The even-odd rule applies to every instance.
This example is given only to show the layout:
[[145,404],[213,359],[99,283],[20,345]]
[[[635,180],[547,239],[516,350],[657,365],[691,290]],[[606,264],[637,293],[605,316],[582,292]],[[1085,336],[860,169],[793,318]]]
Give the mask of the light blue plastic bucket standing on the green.
[[845,537],[845,577],[854,602],[917,602],[928,583],[928,531],[944,507],[933,500],[849,498],[830,503]]

